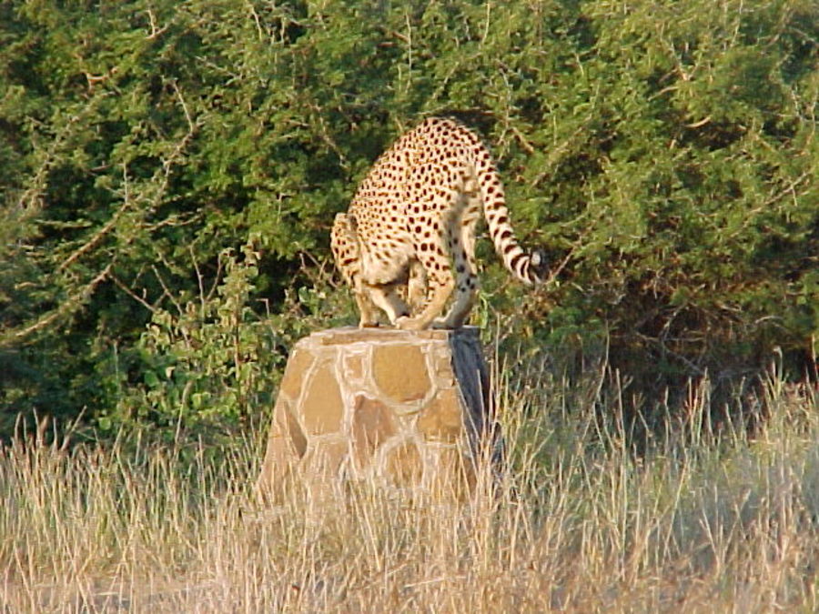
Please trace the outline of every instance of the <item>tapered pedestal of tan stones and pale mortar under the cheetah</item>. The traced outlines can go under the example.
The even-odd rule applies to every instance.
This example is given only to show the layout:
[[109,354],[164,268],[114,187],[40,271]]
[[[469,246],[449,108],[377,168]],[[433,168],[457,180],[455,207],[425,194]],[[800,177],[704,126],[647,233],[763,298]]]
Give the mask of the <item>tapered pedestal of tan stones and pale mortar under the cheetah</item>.
[[335,328],[294,347],[279,388],[259,490],[371,479],[452,488],[475,480],[489,380],[475,327]]

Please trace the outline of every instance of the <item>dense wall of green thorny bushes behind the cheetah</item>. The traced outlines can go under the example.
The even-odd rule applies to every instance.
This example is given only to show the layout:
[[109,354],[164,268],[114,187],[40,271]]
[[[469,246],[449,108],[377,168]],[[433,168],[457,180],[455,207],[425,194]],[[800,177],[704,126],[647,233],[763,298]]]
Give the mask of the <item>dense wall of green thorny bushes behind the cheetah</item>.
[[295,338],[354,321],[332,216],[430,114],[486,136],[521,239],[566,262],[531,291],[483,242],[481,322],[606,337],[650,385],[773,347],[799,374],[817,41],[809,0],[0,2],[0,433],[262,411]]

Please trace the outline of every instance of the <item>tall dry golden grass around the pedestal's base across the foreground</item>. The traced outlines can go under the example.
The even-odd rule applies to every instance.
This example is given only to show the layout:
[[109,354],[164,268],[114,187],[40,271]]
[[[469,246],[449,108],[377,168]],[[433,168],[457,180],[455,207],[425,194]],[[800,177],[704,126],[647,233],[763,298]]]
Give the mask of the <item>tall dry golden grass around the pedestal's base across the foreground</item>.
[[639,455],[602,368],[497,394],[503,467],[483,463],[466,501],[349,484],[262,507],[250,439],[219,462],[2,448],[0,611],[819,609],[815,390],[771,377],[749,436],[703,429],[693,385]]

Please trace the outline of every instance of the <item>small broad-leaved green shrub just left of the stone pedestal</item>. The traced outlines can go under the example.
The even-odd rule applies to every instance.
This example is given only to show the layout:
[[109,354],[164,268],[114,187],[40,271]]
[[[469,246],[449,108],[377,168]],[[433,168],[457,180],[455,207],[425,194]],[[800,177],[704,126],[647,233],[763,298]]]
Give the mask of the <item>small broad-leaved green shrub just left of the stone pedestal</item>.
[[[136,343],[141,382],[119,395],[104,413],[104,430],[145,423],[178,439],[219,440],[247,426],[258,408],[270,407],[279,339],[248,307],[258,277],[258,255],[246,247],[241,261],[219,257],[225,277],[174,309],[157,307]],[[185,301],[185,302],[183,302]]]

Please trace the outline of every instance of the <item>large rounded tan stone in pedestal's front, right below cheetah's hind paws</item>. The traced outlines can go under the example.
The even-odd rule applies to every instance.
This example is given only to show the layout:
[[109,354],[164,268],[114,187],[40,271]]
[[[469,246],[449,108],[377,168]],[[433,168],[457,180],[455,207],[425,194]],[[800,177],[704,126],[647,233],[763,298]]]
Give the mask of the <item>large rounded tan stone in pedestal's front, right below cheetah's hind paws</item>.
[[375,347],[372,377],[385,395],[402,403],[424,398],[430,390],[427,363],[418,346]]

